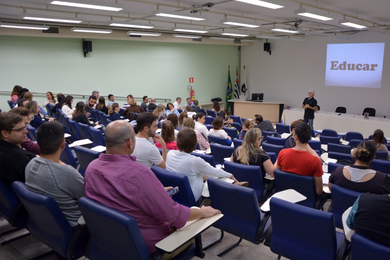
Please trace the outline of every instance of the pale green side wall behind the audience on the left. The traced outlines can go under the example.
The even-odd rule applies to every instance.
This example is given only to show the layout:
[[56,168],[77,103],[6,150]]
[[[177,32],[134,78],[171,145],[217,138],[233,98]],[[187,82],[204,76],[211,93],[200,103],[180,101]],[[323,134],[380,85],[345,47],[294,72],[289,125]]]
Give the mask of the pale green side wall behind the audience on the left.
[[[1,36],[0,90],[20,85],[32,92],[88,96],[98,90],[104,97],[147,95],[174,102],[189,97],[192,85],[199,102],[225,100],[228,66],[239,66],[234,46],[94,39],[92,50],[83,57],[82,39]],[[9,93],[0,94],[3,111],[9,110],[9,99]],[[39,104],[45,99],[34,95]]]

